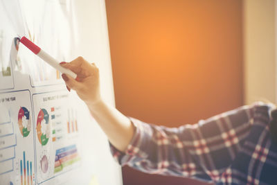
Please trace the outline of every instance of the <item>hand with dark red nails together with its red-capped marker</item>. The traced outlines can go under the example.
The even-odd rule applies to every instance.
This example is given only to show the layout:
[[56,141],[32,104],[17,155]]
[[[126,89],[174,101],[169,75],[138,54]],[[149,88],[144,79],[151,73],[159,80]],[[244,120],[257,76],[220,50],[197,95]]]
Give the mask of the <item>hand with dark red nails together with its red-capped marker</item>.
[[70,89],[77,91],[78,96],[85,103],[91,105],[97,100],[100,100],[99,72],[95,64],[89,64],[82,57],[69,63],[58,62],[26,37],[22,37],[20,42],[39,56],[39,58],[42,58],[42,60],[60,71],[62,78],[66,82],[66,88],[69,91]]

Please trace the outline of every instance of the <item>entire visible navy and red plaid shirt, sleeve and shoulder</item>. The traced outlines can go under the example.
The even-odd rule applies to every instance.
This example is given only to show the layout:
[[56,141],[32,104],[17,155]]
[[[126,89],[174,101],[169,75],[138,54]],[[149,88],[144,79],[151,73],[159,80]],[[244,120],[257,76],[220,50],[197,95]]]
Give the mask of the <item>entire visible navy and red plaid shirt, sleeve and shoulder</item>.
[[[277,184],[277,143],[269,132],[274,105],[255,103],[177,128],[143,123],[120,165],[145,173],[192,177],[215,184]],[[277,123],[276,123],[277,124]]]

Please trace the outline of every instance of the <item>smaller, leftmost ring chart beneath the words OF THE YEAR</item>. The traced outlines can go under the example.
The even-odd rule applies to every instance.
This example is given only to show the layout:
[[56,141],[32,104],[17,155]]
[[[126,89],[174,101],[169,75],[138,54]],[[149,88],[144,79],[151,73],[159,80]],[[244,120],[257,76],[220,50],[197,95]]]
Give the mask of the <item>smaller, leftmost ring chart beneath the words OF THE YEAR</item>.
[[[26,121],[23,121],[23,118],[25,118]],[[22,136],[26,137],[30,134],[30,127],[31,127],[30,112],[28,111],[28,109],[26,109],[26,107],[20,107],[19,109],[18,127]]]

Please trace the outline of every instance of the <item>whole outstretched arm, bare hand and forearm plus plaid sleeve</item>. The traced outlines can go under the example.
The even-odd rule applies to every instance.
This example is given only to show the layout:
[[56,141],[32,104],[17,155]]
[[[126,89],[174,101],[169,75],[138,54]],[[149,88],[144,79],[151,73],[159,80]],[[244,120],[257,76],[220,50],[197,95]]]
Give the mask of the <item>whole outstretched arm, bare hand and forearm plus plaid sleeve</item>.
[[[218,181],[240,152],[255,115],[267,117],[267,106],[245,106],[195,125],[168,128],[120,114],[102,102],[99,73],[82,58],[62,64],[78,80],[62,75],[66,85],[87,103],[111,143],[114,158],[145,173]],[[133,127],[134,126],[134,127]]]

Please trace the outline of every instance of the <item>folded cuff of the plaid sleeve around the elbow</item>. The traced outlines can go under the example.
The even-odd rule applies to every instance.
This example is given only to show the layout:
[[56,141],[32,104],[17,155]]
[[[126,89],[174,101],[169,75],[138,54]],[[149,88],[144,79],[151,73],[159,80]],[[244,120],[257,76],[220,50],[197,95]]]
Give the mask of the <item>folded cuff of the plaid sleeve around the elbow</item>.
[[145,152],[143,152],[140,149],[141,145],[145,143],[145,140],[148,139],[148,134],[145,134],[145,126],[147,125],[135,118],[129,117],[129,120],[134,125],[134,135],[130,143],[128,144],[125,152],[121,152],[120,150],[116,149],[116,147],[114,147],[109,142],[111,155],[121,166],[128,164],[128,162],[132,161],[134,157],[139,157],[139,158],[147,157]]

